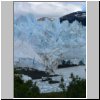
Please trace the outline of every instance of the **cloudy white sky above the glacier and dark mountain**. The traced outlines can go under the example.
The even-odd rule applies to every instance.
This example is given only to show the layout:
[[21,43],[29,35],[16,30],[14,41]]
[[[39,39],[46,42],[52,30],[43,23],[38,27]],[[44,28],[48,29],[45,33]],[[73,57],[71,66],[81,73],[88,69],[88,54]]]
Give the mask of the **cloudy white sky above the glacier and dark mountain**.
[[86,11],[86,2],[14,2],[14,14],[19,15],[60,17],[75,11]]

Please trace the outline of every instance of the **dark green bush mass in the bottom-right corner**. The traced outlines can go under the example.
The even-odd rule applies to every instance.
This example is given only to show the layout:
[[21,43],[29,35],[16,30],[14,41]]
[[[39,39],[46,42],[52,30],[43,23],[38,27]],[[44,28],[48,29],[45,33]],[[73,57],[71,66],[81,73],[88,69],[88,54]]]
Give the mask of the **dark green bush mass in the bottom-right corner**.
[[86,80],[72,75],[72,81],[67,87],[67,98],[85,98],[86,97]]

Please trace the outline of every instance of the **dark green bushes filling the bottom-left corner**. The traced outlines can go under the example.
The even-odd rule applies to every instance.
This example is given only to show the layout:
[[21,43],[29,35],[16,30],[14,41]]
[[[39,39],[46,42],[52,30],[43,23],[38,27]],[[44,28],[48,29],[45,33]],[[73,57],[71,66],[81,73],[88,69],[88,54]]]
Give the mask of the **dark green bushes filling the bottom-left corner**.
[[31,80],[24,82],[21,75],[14,75],[14,97],[15,98],[35,98],[40,94],[36,83]]

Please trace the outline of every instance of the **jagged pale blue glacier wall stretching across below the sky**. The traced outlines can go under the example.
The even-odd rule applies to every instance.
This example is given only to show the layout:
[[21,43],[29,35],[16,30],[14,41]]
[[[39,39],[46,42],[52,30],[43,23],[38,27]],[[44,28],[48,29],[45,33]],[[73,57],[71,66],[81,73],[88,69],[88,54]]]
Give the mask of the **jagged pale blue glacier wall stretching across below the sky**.
[[86,26],[75,20],[14,16],[14,65],[56,69],[62,60],[86,63]]

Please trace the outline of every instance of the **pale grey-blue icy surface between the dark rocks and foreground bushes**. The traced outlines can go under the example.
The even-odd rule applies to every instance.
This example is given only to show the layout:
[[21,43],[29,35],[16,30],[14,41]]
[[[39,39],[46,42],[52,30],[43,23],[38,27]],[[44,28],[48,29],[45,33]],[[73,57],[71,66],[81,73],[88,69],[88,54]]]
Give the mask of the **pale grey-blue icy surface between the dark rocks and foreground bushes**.
[[[52,77],[52,80],[59,81],[61,80],[61,77],[64,78],[64,84],[66,86],[69,85],[69,82],[71,81],[70,74],[73,73],[75,76],[78,75],[82,79],[86,79],[86,72],[85,72],[85,66],[78,66],[78,67],[70,67],[70,68],[62,68],[55,70],[56,74],[59,74],[60,76]],[[31,78],[23,75],[23,79],[25,81],[30,80]],[[32,80],[33,83],[37,83],[37,86],[40,89],[41,93],[49,93],[49,92],[60,92],[62,89],[59,87],[60,83],[55,84],[49,84],[48,81],[41,81],[41,79]]]

